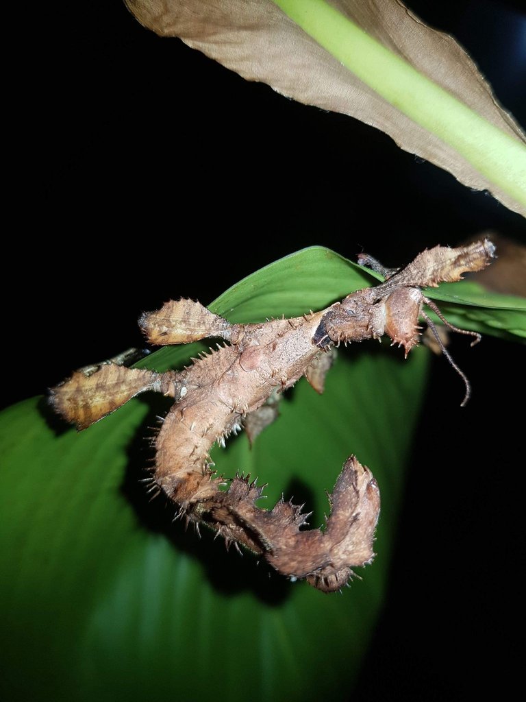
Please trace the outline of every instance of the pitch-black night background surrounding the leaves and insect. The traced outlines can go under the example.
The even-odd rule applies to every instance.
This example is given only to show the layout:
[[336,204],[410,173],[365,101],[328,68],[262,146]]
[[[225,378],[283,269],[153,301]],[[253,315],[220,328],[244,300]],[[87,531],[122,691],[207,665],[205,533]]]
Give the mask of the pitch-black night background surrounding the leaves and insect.
[[[524,125],[520,4],[410,7],[471,51]],[[119,1],[49,6],[32,29],[7,135],[4,405],[142,345],[142,310],[209,303],[304,246],[403,265],[487,229],[524,241],[523,218],[492,197],[358,121],[159,39]],[[523,351],[454,340],[466,409],[457,376],[433,361],[389,599],[353,699],[464,699],[518,680]]]

